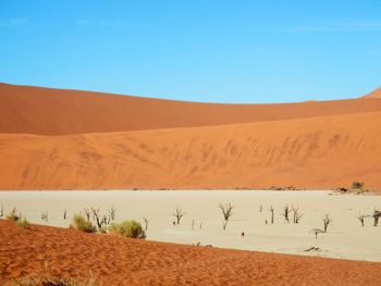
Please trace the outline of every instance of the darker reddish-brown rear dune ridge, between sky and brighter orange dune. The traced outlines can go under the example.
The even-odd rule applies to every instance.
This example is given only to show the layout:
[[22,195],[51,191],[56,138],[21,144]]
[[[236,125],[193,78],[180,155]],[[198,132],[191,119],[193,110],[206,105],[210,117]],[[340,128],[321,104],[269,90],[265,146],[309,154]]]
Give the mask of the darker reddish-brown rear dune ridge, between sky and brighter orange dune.
[[0,133],[67,135],[279,121],[381,111],[372,98],[210,104],[0,84]]

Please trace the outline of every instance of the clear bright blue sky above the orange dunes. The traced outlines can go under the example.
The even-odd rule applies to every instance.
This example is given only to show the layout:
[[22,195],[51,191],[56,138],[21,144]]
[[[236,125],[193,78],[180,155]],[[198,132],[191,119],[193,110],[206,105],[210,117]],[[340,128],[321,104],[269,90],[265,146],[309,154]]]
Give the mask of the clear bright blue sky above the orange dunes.
[[213,102],[381,86],[381,1],[0,0],[0,82]]

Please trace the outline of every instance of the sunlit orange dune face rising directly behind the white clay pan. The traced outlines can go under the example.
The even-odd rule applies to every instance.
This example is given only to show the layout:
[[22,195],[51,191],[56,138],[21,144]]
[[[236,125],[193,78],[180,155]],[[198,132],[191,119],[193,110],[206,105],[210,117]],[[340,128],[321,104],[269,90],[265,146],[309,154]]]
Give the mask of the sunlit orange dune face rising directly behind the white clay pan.
[[194,128],[1,135],[1,189],[381,189],[381,112]]

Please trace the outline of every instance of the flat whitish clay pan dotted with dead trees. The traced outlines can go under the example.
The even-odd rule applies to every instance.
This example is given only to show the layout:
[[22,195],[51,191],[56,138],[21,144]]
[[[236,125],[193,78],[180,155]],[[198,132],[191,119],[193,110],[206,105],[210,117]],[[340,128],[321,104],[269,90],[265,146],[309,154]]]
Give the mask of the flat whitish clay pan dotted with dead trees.
[[[225,231],[220,202],[234,206]],[[373,227],[372,217],[367,217],[362,227],[357,220],[359,214],[380,209],[381,196],[250,190],[1,191],[0,203],[4,213],[14,207],[36,224],[67,227],[70,217],[85,207],[100,208],[105,213],[114,207],[116,221],[135,219],[144,224],[146,217],[148,240],[381,262],[381,225]],[[281,213],[286,204],[299,207],[304,215],[298,224],[285,223]],[[172,213],[177,206],[186,214],[174,226]],[[63,219],[64,210],[67,220]],[[41,220],[42,212],[48,212],[47,223]],[[328,233],[316,239],[311,229],[323,228],[324,214],[333,222]],[[305,251],[310,247],[319,250]]]

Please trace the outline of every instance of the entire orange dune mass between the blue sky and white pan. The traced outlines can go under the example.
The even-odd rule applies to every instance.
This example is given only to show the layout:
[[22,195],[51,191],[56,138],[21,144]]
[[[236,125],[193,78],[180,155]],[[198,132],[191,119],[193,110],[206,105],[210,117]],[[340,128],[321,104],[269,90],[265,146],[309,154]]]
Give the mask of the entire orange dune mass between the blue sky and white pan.
[[381,190],[380,95],[212,104],[1,84],[0,188]]

